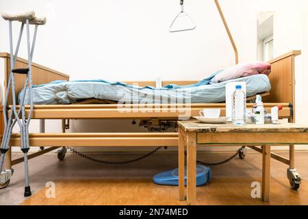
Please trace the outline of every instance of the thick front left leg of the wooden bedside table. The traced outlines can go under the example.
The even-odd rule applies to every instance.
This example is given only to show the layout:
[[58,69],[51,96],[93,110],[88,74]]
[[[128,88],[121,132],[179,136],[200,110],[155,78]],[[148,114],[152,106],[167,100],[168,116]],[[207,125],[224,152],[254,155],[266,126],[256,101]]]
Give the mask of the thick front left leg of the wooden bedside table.
[[196,133],[187,133],[187,203],[196,203]]

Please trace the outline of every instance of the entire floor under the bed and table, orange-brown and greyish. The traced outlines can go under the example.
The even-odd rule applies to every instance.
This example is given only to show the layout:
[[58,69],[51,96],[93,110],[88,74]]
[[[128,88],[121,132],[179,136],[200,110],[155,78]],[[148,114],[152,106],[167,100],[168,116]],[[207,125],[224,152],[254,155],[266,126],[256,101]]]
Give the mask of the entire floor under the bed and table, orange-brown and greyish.
[[[234,151],[238,148],[235,147]],[[233,153],[198,153],[204,162],[218,162]],[[286,156],[287,153],[279,153]],[[13,155],[14,158],[21,156]],[[93,155],[99,159],[125,160],[136,154]],[[246,159],[211,168],[213,181],[198,188],[199,205],[308,205],[308,153],[296,153],[296,169],[304,178],[300,190],[290,189],[287,166],[271,160],[271,201],[251,198],[251,183],[261,181],[261,154],[248,153]],[[177,154],[162,151],[149,159],[124,166],[101,165],[68,154],[60,162],[54,153],[29,160],[33,195],[23,197],[23,164],[14,166],[8,188],[0,190],[0,205],[184,205],[178,201],[177,187],[155,185],[153,175],[177,167]],[[55,182],[56,198],[44,196],[44,186]]]

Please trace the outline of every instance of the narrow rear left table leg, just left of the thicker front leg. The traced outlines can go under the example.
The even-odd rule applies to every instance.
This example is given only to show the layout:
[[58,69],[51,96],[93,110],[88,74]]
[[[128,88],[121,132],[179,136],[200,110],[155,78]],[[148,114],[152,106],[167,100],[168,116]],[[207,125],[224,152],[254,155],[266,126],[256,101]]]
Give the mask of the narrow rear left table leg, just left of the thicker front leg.
[[184,131],[179,129],[179,199],[185,200],[185,141]]

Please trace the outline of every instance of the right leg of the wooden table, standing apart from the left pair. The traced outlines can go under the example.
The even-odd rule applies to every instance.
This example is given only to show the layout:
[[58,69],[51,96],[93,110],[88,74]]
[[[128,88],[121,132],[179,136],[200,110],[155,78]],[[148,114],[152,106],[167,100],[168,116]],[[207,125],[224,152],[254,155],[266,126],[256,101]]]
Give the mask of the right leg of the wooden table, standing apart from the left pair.
[[262,146],[262,200],[270,201],[270,146]]

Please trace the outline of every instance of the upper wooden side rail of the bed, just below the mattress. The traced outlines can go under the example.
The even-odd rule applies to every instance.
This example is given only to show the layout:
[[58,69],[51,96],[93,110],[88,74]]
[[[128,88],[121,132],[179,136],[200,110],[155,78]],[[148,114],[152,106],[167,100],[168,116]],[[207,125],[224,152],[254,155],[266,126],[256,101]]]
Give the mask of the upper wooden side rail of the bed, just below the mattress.
[[[274,106],[282,105],[283,110],[279,111],[280,118],[290,118],[292,108],[289,103],[264,103],[264,108],[270,112]],[[17,110],[18,110],[17,106]],[[247,107],[253,107],[248,103]],[[45,119],[151,119],[177,120],[179,118],[190,118],[199,116],[200,110],[220,108],[221,115],[226,113],[225,103],[206,103],[206,104],[149,104],[149,105],[118,105],[118,104],[94,104],[94,105],[34,105],[32,118]],[[26,114],[29,113],[29,106],[26,106]]]

